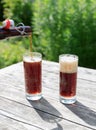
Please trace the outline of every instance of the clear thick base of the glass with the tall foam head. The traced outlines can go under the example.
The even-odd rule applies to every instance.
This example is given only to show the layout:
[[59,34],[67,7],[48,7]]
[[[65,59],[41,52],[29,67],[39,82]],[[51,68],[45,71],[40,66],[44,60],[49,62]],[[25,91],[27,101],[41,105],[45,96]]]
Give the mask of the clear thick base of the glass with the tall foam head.
[[60,96],[60,102],[63,104],[73,104],[76,102],[76,96],[70,98]]

